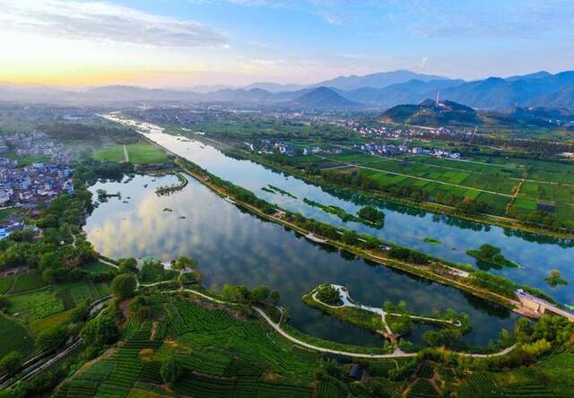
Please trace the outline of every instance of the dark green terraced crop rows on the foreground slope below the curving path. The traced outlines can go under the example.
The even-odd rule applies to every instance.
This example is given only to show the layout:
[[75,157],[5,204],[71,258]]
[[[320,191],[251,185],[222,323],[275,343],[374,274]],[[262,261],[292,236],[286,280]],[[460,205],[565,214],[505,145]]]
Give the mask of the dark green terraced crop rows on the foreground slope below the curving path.
[[[161,360],[172,356],[187,369],[173,385],[178,394],[312,396],[317,354],[296,349],[265,325],[241,321],[221,309],[167,297],[155,300],[154,312],[161,316],[156,339],[151,340],[150,322],[130,323],[124,328],[130,337],[112,356],[67,381],[56,396],[126,397],[136,390],[161,396]],[[341,396],[334,387],[321,396]]]

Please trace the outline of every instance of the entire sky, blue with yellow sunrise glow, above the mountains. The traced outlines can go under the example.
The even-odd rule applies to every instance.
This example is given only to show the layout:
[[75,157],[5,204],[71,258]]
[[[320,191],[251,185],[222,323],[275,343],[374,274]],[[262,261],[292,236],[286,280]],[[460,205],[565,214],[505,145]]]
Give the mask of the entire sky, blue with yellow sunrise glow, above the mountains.
[[574,0],[0,0],[0,82],[187,88],[574,69]]

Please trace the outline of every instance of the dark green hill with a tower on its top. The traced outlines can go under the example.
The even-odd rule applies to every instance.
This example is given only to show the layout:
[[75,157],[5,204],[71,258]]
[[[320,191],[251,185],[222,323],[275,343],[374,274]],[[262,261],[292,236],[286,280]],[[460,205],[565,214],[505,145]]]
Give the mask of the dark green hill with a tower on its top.
[[382,122],[402,125],[482,125],[483,121],[473,108],[457,102],[426,99],[418,105],[397,105],[387,109],[379,119]]

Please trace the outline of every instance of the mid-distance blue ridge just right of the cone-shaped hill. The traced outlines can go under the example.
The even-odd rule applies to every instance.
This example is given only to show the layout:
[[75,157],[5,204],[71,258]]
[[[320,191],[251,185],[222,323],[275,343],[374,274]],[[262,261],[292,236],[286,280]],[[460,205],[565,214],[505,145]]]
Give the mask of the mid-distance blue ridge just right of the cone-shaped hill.
[[[431,93],[455,87],[464,83],[462,80],[410,80],[408,82],[392,84],[383,89],[363,87],[353,91],[339,91],[339,94],[353,101],[381,107],[393,107],[399,104],[419,103],[429,98]],[[435,95],[436,97],[436,95]]]

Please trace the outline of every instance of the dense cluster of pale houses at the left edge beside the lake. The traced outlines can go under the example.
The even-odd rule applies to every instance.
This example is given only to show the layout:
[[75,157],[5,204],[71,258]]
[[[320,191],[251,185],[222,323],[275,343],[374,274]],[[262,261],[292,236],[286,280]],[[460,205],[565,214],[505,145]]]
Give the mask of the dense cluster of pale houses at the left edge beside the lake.
[[72,169],[62,164],[32,163],[19,168],[16,160],[0,158],[0,206],[34,208],[62,192],[74,193]]

